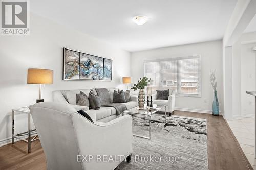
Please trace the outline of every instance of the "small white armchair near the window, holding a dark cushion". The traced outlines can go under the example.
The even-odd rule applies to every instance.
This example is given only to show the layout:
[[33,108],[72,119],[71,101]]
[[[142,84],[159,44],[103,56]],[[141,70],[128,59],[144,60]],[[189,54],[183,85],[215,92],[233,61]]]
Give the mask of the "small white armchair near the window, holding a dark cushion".
[[[166,106],[166,112],[168,112],[170,116],[175,109],[175,94],[175,90],[170,90],[168,100],[157,99],[157,94],[153,94],[153,104],[157,104],[159,106]],[[160,111],[165,112],[165,107],[163,107]]]

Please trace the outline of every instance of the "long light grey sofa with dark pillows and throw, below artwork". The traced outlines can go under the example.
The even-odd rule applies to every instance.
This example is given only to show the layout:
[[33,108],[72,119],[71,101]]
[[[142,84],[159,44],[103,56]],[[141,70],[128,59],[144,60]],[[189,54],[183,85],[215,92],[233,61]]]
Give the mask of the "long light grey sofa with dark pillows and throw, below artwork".
[[[117,88],[107,88],[110,92],[111,102],[113,101],[114,90],[118,91]],[[87,114],[91,116],[93,121],[99,122],[109,122],[119,116],[116,115],[116,109],[114,107],[104,107],[101,106],[99,110],[89,110],[86,106],[76,105],[76,94],[80,94],[80,91],[84,92],[89,96],[90,91],[97,95],[97,92],[94,89],[81,89],[81,90],[57,90],[53,91],[53,101],[70,104],[77,111],[83,109]],[[131,96],[130,102],[124,103],[127,109],[134,108],[138,106],[138,97]]]

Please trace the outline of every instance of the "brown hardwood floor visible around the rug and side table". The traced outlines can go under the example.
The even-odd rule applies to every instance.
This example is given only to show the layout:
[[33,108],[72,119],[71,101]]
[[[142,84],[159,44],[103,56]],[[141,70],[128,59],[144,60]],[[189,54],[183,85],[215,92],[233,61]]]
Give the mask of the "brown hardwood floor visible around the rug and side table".
[[[176,111],[174,115],[207,119],[209,170],[252,169],[222,116],[183,111]],[[19,141],[0,147],[0,169],[46,169],[45,154],[39,140],[31,144],[29,154],[26,144]]]

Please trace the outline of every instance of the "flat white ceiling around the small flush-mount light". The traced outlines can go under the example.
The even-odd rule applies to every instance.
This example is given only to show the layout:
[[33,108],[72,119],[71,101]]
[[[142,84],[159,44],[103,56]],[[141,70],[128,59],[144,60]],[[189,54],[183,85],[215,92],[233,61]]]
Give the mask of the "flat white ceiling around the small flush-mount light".
[[[127,51],[222,39],[237,0],[33,0],[31,12]],[[150,20],[139,26],[136,15]]]

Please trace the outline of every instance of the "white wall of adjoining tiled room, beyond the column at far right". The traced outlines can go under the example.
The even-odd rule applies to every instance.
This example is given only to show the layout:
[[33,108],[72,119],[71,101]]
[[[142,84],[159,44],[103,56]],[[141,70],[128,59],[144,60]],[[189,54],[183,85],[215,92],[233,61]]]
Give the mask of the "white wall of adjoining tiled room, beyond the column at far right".
[[233,45],[233,117],[254,117],[254,97],[245,91],[256,91],[256,32],[242,34]]

